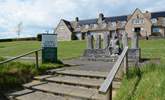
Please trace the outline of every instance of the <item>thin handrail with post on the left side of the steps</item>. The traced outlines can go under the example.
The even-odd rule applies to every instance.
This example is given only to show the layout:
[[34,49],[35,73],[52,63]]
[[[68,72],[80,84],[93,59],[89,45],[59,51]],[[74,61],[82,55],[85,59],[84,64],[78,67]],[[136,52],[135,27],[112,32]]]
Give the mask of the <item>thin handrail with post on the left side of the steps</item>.
[[38,52],[41,51],[41,50],[42,50],[42,49],[37,49],[37,50],[34,50],[34,51],[30,51],[30,52],[28,52],[28,53],[25,53],[25,54],[22,54],[22,55],[13,57],[13,58],[11,58],[11,59],[7,59],[7,60],[4,60],[4,61],[1,61],[1,62],[0,62],[0,65],[1,65],[1,64],[5,64],[5,63],[9,63],[9,62],[14,61],[14,60],[17,60],[17,59],[19,59],[19,58],[21,58],[21,57],[24,57],[24,56],[31,55],[31,54],[35,53],[35,67],[38,69],[38,67],[39,67],[39,63],[38,63],[38,62],[39,62],[39,61],[38,61]]

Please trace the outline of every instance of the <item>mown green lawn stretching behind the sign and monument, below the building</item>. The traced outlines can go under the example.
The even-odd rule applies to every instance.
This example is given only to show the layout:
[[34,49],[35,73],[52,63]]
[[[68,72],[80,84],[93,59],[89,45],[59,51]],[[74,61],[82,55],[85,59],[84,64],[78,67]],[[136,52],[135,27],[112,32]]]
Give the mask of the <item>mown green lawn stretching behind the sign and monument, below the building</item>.
[[[17,56],[40,47],[41,43],[38,41],[0,42],[0,56]],[[58,57],[69,59],[81,56],[85,47],[85,41],[59,42]],[[140,40],[140,47],[142,57],[165,60],[165,39]]]

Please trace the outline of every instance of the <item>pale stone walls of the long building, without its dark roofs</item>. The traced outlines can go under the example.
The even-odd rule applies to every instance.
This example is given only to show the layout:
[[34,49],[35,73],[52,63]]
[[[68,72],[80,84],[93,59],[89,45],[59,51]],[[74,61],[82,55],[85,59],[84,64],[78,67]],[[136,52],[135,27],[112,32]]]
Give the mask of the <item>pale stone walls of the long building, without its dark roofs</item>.
[[[102,17],[104,17],[104,16],[100,15],[99,18],[98,18],[99,19],[98,20],[99,24],[103,23],[102,22],[103,21]],[[138,19],[138,18],[143,19],[143,23],[133,24],[133,20]],[[142,13],[139,9],[136,9],[132,13],[132,15],[127,16],[127,21],[126,21],[125,27],[117,29],[118,33],[122,34],[126,31],[128,33],[128,37],[131,37],[133,32],[135,31],[135,28],[139,27],[140,28],[140,35],[142,37],[145,37],[146,35],[150,36],[150,35],[152,35],[152,26],[153,26],[151,20],[152,19],[151,19],[151,13],[150,12]],[[158,34],[160,34],[161,36],[165,36],[165,18],[164,17],[163,18],[157,18],[157,22],[158,23],[156,23],[156,25],[157,25],[156,27],[160,28],[160,32],[158,32]],[[108,22],[108,23],[110,23],[110,22]],[[112,23],[116,23],[116,22],[112,22]],[[162,26],[162,24],[164,26]],[[95,25],[93,25],[93,26],[95,26]],[[104,33],[106,33],[106,32],[110,32],[110,34],[116,32],[116,28],[117,28],[116,25],[114,26],[114,29],[112,29],[112,26],[109,26],[109,27],[110,27],[109,31],[105,31],[105,32],[104,31],[95,31],[95,32],[91,32],[91,33],[93,33],[94,37],[95,37],[95,35],[100,34],[101,37],[103,38]],[[84,35],[84,33],[81,33],[80,31],[82,31],[82,30],[79,30],[78,33],[74,34],[79,40],[84,39],[82,37],[86,36],[86,35]],[[59,25],[57,26],[57,28],[55,30],[55,33],[57,34],[57,37],[58,37],[59,41],[70,41],[70,40],[72,40],[72,32],[68,29],[68,26],[66,25],[66,23],[63,20],[60,21]]]

